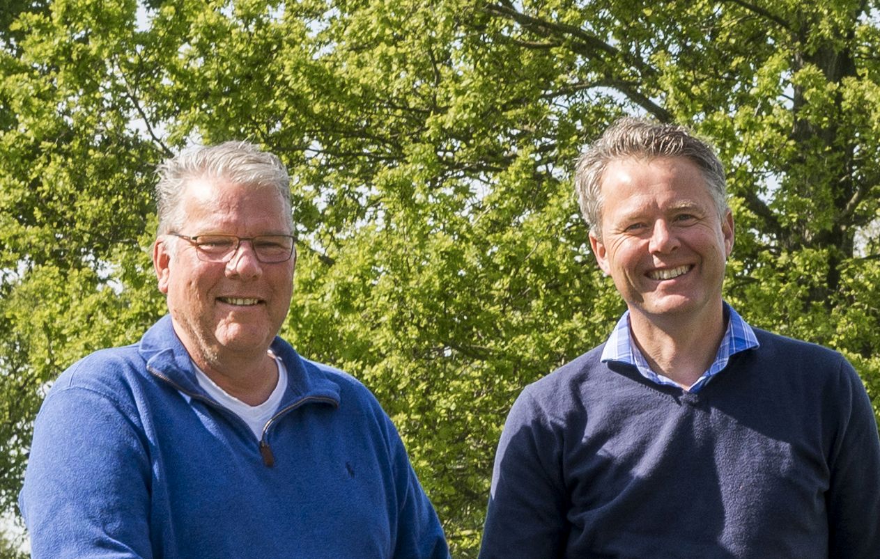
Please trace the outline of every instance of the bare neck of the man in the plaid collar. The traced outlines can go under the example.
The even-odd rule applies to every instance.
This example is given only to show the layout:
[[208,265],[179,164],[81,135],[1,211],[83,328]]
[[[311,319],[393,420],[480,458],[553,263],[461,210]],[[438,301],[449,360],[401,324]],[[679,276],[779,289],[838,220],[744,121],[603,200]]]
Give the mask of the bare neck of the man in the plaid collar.
[[715,360],[727,321],[720,304],[717,313],[699,321],[658,321],[631,310],[629,328],[651,369],[688,388]]

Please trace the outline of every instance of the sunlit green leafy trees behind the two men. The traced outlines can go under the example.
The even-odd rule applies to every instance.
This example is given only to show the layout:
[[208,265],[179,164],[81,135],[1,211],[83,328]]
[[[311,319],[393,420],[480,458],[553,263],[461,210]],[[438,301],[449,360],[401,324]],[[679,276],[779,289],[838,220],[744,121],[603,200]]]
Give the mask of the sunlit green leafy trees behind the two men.
[[398,425],[473,557],[524,384],[623,309],[570,173],[622,114],[729,174],[726,295],[829,345],[880,403],[880,19],[828,0],[7,0],[0,7],[0,508],[86,352],[164,312],[153,169],[189,142],[282,156],[301,237],[282,334]]

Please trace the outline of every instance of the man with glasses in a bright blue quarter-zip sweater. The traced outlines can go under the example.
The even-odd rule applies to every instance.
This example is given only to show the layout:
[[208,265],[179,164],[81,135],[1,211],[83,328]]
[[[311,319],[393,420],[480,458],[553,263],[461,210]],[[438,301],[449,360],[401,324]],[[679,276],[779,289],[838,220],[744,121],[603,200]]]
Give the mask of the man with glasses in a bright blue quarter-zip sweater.
[[296,263],[282,163],[227,142],[159,171],[170,313],[55,381],[19,497],[33,557],[448,557],[376,399],[276,336]]

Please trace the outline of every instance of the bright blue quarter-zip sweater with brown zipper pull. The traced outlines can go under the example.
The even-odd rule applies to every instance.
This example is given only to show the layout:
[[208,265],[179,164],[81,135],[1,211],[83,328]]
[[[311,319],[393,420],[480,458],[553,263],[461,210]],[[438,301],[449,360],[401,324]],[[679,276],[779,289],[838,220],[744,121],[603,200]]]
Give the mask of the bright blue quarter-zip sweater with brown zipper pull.
[[272,350],[290,380],[259,445],[199,387],[168,316],[65,371],[19,496],[33,557],[448,557],[376,399]]

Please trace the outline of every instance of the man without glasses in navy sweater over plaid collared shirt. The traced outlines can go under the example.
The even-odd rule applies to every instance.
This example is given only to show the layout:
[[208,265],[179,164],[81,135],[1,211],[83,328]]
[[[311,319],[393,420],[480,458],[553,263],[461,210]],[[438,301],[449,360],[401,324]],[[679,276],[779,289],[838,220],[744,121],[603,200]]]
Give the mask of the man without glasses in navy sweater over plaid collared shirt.
[[480,556],[880,557],[869,398],[839,353],[722,301],[734,226],[713,149],[620,120],[576,190],[627,312],[517,398]]

